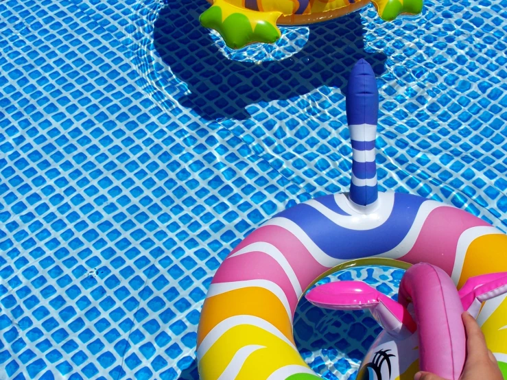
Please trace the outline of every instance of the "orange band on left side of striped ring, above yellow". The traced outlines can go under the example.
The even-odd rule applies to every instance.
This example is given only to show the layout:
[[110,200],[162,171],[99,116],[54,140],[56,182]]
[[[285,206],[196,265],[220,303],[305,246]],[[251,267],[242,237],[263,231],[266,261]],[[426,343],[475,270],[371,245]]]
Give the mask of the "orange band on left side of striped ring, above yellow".
[[256,316],[270,322],[291,342],[292,323],[281,300],[268,289],[244,287],[207,298],[202,307],[197,333],[197,344],[217,324],[233,316]]

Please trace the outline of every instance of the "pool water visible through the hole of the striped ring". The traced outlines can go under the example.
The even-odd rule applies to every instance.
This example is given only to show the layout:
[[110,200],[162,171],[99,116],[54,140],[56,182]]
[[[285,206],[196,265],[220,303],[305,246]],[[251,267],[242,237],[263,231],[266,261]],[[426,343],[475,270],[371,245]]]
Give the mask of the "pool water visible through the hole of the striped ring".
[[[363,281],[397,300],[403,273],[404,270],[384,266],[357,267],[327,276],[314,287],[330,281]],[[381,330],[370,313],[320,309],[305,298],[294,316],[299,352],[311,368],[329,380],[355,375],[364,353]]]

